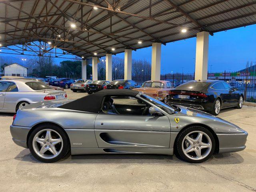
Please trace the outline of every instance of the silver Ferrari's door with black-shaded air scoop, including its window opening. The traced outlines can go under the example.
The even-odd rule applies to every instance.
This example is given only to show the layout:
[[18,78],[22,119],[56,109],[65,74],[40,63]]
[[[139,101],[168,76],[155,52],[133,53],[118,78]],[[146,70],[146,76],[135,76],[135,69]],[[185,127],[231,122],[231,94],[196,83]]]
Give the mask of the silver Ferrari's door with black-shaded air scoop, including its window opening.
[[114,111],[100,113],[95,120],[99,148],[169,148],[167,116],[143,115],[147,104],[133,97],[114,97],[112,106]]

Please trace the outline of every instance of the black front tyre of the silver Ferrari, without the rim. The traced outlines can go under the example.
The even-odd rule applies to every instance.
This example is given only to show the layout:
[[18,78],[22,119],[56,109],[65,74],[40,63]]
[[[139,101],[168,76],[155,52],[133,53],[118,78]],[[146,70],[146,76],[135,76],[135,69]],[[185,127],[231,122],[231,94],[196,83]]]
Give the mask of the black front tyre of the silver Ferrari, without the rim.
[[[203,159],[200,159],[200,160],[193,160],[193,159],[190,159],[188,158],[185,153],[183,152],[182,150],[182,142],[183,142],[183,139],[184,137],[189,134],[190,132],[193,132],[193,131],[200,131],[200,132],[204,132],[205,134],[207,134],[212,142],[212,148],[210,150],[210,153]],[[214,136],[212,135],[212,133],[202,127],[202,126],[190,126],[190,127],[187,127],[185,128],[184,130],[182,130],[177,138],[176,138],[176,142],[175,142],[175,152],[176,152],[176,156],[178,158],[181,158],[182,160],[186,161],[186,162],[190,162],[190,163],[202,163],[206,160],[208,160],[212,154],[214,153],[214,150],[215,150],[215,139],[214,139]]]

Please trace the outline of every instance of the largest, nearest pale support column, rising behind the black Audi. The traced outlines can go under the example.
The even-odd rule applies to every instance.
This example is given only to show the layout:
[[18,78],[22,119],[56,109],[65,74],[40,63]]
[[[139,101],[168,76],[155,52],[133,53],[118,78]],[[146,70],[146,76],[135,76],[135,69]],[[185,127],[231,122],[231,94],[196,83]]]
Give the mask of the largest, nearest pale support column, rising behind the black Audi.
[[206,80],[208,76],[209,32],[196,34],[195,80]]

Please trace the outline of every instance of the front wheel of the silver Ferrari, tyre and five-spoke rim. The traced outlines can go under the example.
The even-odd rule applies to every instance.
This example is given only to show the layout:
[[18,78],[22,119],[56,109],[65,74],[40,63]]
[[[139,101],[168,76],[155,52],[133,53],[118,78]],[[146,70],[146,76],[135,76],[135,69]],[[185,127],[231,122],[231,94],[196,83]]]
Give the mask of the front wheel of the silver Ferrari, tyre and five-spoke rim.
[[190,126],[180,132],[175,145],[180,158],[190,163],[201,163],[214,153],[215,140],[206,128]]

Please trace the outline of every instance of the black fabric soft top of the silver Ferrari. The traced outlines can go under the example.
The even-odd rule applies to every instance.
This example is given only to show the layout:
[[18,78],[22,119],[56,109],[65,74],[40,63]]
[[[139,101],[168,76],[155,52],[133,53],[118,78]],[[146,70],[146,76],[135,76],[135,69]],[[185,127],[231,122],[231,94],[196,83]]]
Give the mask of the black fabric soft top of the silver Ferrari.
[[138,91],[127,89],[101,90],[94,94],[84,96],[80,99],[59,106],[58,108],[98,113],[100,112],[100,108],[105,96],[113,95],[135,97],[138,93]]

